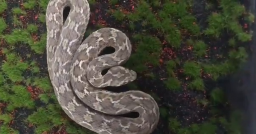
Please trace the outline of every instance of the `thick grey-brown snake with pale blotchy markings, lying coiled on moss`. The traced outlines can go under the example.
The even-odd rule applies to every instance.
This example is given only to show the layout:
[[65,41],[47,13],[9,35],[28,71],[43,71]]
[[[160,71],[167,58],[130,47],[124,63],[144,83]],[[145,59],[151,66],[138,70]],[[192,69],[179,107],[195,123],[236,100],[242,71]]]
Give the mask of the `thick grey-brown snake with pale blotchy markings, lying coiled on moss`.
[[[66,7],[70,12],[64,20]],[[89,17],[87,0],[49,0],[47,5],[47,69],[57,102],[75,123],[98,134],[152,133],[159,107],[151,95],[105,88],[137,78],[135,71],[122,67],[132,52],[129,38],[118,29],[101,28],[83,40]],[[115,52],[101,55],[106,47]],[[132,112],[138,116],[124,116]]]

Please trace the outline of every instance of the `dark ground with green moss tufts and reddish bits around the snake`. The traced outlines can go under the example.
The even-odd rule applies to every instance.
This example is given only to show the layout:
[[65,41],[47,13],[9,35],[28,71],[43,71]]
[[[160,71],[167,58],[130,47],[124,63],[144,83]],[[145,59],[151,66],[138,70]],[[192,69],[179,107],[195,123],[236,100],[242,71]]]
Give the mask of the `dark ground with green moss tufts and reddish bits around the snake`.
[[[133,44],[126,67],[161,119],[153,134],[239,134],[219,79],[249,55],[254,16],[237,0],[89,0],[86,36],[102,27]],[[48,0],[0,0],[0,134],[92,134],[61,110],[48,78]],[[228,111],[228,112],[227,112]]]

